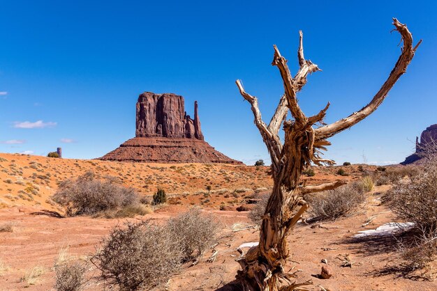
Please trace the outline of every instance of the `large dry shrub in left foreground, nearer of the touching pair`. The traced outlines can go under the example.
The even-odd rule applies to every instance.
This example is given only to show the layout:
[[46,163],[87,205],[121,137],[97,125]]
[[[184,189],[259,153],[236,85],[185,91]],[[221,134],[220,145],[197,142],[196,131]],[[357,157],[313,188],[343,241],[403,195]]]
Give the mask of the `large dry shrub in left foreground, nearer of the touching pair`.
[[177,237],[150,221],[116,227],[91,262],[120,290],[154,288],[170,278],[182,262]]

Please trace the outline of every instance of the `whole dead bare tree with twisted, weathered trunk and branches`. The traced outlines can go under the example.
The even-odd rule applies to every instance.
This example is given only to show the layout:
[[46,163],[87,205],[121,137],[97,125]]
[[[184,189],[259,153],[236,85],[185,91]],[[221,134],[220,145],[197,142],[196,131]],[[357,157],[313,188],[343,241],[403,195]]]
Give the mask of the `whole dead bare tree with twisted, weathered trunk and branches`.
[[[291,276],[284,272],[283,267],[289,253],[286,237],[309,207],[304,200],[304,194],[334,189],[346,184],[345,181],[339,180],[316,187],[301,187],[299,182],[302,171],[311,163],[319,166],[334,164],[332,160],[320,157],[320,150],[326,150],[325,147],[331,144],[327,139],[357,124],[375,111],[399,77],[406,72],[406,68],[422,40],[413,48],[413,38],[407,26],[401,24],[396,18],[393,19],[393,24],[394,30],[401,34],[403,48],[387,81],[369,104],[360,111],[335,123],[313,127],[316,123],[322,123],[329,102],[324,109],[311,117],[305,116],[299,108],[296,95],[306,84],[306,77],[308,74],[320,71],[318,65],[304,58],[302,31],[299,31],[300,39],[297,51],[300,68],[295,77],[292,77],[288,69],[286,58],[281,56],[279,49],[274,45],[272,65],[279,68],[285,94],[281,97],[269,125],[262,121],[257,98],[244,91],[240,80],[236,81],[239,93],[251,104],[255,125],[259,129],[272,159],[274,179],[272,195],[267,203],[260,227],[260,242],[258,246],[249,249],[245,255],[238,259],[242,270],[238,272],[237,280],[242,282],[244,290],[286,291],[297,288],[297,285],[302,285],[291,283]],[[290,110],[292,120],[286,120],[288,110]],[[278,135],[282,123],[285,131],[284,143],[281,142]]]

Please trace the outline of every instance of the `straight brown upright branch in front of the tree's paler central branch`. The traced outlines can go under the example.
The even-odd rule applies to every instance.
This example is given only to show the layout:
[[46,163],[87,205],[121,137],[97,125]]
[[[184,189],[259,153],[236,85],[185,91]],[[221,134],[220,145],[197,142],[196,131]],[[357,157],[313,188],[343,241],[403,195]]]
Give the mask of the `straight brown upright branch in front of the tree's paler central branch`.
[[287,98],[287,106],[291,111],[291,115],[293,118],[295,118],[295,121],[299,125],[305,125],[306,124],[306,116],[302,112],[302,110],[299,107],[299,104],[297,104],[297,98],[296,98],[296,92],[295,87],[293,86],[293,79],[290,74],[290,69],[287,65],[287,60],[283,56],[281,56],[281,53],[279,52],[278,47],[276,45],[274,47],[274,58],[272,65],[276,65],[279,68],[279,72],[281,72],[281,77],[283,80],[283,87],[285,89],[286,98]]

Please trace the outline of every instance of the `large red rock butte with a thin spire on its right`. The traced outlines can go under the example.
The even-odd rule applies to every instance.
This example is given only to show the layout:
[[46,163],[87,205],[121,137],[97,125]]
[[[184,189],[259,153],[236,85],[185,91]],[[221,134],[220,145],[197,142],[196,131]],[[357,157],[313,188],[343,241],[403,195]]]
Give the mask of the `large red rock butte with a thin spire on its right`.
[[135,137],[100,159],[149,163],[242,164],[204,141],[194,102],[194,118],[186,115],[184,97],[145,92],[138,97]]

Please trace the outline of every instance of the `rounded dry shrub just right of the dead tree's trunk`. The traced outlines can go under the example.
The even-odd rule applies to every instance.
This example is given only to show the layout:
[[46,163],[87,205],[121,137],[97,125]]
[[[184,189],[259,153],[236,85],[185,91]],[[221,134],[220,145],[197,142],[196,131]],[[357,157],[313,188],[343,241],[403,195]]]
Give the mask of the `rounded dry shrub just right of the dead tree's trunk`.
[[366,200],[364,187],[353,182],[334,190],[313,194],[309,200],[311,219],[329,220],[347,217]]

